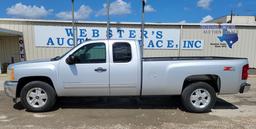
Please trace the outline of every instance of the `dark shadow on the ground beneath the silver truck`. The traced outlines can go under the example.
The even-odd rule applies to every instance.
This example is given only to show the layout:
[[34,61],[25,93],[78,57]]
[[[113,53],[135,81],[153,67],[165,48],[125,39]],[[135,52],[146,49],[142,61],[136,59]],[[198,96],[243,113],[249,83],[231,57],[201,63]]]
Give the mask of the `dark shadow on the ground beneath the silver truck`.
[[[14,105],[17,110],[24,108],[20,103]],[[93,97],[93,98],[58,98],[52,111],[58,109],[180,109],[179,96],[148,96],[148,97]],[[237,106],[221,98],[217,99],[214,109],[238,109]]]

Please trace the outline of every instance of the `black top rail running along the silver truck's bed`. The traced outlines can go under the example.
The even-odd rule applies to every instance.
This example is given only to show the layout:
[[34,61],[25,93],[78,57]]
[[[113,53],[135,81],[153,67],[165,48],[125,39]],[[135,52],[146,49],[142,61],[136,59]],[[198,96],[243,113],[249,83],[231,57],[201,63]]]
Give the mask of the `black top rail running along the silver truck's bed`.
[[247,59],[239,57],[218,57],[218,56],[180,56],[180,57],[143,57],[143,61],[177,61],[177,60],[238,60]]

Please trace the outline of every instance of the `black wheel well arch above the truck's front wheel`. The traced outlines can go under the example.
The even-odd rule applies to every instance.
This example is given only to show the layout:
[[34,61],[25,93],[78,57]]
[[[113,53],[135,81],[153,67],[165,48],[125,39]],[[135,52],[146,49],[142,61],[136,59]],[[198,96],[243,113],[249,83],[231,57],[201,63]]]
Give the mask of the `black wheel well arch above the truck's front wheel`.
[[19,79],[18,81],[18,85],[17,85],[17,90],[16,90],[16,96],[20,97],[20,92],[21,89],[28,84],[29,82],[32,81],[42,81],[42,82],[46,82],[49,85],[51,85],[54,88],[53,82],[49,77],[45,77],[45,76],[33,76],[33,77],[24,77]]

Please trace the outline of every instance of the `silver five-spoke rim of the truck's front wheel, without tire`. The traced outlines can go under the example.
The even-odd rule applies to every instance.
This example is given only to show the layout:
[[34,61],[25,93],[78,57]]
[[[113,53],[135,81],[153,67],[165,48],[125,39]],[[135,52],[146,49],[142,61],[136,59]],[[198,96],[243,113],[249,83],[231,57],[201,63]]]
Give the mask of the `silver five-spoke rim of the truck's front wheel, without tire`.
[[28,91],[26,96],[27,102],[34,108],[43,107],[47,100],[47,93],[42,88],[32,88]]

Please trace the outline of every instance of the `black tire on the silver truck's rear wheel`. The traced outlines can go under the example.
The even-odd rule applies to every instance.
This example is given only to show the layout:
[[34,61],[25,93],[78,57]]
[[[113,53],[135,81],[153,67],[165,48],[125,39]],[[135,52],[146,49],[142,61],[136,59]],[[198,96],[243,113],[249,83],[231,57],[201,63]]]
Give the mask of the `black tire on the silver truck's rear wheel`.
[[[209,98],[205,97],[206,99],[209,100],[207,102],[208,104],[205,104],[205,106],[204,106],[203,103],[199,102],[200,103],[199,105],[202,104],[203,107],[199,108],[199,107],[195,106],[198,104],[195,104],[195,101],[192,100],[190,97],[191,97],[192,93],[195,94],[196,90],[199,90],[200,92],[202,92],[204,90],[208,91],[210,97]],[[211,109],[214,107],[215,102],[216,102],[216,92],[213,89],[213,87],[211,85],[209,85],[208,83],[195,82],[195,83],[189,84],[183,90],[181,98],[182,98],[182,104],[187,111],[193,112],[193,113],[205,113],[205,112],[211,111]],[[201,97],[201,99],[202,99],[202,97]],[[200,101],[200,99],[198,98],[197,101]],[[193,105],[192,103],[194,103],[195,105]]]

